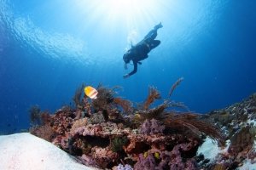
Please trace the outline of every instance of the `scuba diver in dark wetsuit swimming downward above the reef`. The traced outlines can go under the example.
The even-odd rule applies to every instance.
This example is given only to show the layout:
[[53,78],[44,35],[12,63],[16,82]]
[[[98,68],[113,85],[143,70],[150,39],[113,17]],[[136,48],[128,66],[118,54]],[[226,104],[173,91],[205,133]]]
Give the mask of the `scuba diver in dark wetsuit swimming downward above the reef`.
[[149,31],[148,34],[143,38],[141,42],[138,42],[135,46],[131,45],[129,49],[123,56],[125,61],[125,70],[127,69],[127,64],[132,60],[133,62],[133,71],[124,75],[124,78],[131,77],[131,75],[137,72],[137,64],[142,65],[140,61],[148,58],[148,53],[153,49],[159,46],[160,40],[154,40],[157,36],[157,30],[162,28],[161,22],[154,26],[154,29]]

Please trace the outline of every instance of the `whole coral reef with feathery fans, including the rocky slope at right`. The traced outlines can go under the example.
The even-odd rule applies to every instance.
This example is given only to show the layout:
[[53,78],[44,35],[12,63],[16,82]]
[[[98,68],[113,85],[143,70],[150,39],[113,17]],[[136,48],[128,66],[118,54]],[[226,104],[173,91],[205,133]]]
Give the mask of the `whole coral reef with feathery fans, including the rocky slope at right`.
[[[182,80],[174,83],[172,91]],[[255,96],[200,115],[170,100],[149,107],[160,99],[153,87],[141,107],[116,97],[116,88],[99,86],[97,99],[82,98],[80,89],[75,93],[75,108],[65,106],[52,115],[40,111],[35,114],[39,116],[34,122],[40,124],[33,126],[31,133],[52,142],[84,165],[102,169],[193,170],[234,169],[246,159],[256,161]],[[173,111],[176,107],[186,111]],[[214,160],[197,155],[198,148],[209,138],[217,141],[220,148],[227,148]],[[230,145],[225,145],[228,140]]]

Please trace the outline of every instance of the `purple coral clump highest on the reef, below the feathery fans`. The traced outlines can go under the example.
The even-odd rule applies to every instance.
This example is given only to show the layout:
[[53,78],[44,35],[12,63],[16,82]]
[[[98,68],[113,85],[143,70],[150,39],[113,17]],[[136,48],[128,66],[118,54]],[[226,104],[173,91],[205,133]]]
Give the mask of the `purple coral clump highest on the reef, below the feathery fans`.
[[165,129],[165,125],[160,125],[160,122],[155,120],[155,119],[151,119],[150,121],[148,121],[148,119],[146,119],[146,121],[143,122],[142,127],[140,128],[140,133],[142,134],[155,134],[155,133],[163,133]]

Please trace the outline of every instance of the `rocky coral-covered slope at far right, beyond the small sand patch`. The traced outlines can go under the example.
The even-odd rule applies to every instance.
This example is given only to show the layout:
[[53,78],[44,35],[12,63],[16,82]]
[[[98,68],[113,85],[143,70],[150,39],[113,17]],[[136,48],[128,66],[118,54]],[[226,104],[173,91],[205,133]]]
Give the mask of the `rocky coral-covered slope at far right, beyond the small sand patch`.
[[[212,160],[202,159],[199,164],[206,169],[251,169],[256,167],[256,94],[241,103],[201,116],[220,127],[227,146]],[[250,162],[251,167],[246,167]],[[245,166],[245,167],[243,167]]]

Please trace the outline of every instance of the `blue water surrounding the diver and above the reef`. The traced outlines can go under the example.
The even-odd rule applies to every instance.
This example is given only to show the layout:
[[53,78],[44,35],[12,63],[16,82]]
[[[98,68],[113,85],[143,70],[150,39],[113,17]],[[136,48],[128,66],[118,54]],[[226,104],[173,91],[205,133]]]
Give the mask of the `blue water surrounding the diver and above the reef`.
[[[32,105],[51,112],[70,105],[82,82],[119,85],[119,96],[143,102],[148,86],[165,99],[184,77],[172,99],[191,111],[239,102],[256,92],[255,6],[251,0],[0,0],[0,133],[29,127]],[[123,79],[125,49],[160,21],[160,46]]]

